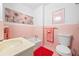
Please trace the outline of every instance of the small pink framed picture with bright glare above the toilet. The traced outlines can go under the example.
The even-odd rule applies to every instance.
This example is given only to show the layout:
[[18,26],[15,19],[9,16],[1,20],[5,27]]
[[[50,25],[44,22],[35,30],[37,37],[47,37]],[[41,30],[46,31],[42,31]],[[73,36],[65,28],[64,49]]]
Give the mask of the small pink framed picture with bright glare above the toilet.
[[62,24],[65,20],[65,9],[58,9],[53,12],[53,24]]

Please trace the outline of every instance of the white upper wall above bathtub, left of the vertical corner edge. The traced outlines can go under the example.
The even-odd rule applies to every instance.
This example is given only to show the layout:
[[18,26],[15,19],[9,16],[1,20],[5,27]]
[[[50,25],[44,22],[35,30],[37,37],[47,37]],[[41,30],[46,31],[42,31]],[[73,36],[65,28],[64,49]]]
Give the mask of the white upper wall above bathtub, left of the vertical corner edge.
[[18,3],[4,3],[4,8],[10,8],[19,12],[22,12],[26,15],[33,16],[34,25],[41,26],[43,24],[43,6],[39,5],[37,8],[30,8],[25,4]]

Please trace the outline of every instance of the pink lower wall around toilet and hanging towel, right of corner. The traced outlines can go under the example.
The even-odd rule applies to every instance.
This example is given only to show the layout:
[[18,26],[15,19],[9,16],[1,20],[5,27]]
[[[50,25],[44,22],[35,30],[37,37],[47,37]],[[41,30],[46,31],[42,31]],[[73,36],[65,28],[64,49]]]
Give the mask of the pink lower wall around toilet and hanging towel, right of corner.
[[78,24],[63,24],[63,25],[54,25],[53,27],[58,28],[57,30],[55,30],[54,43],[51,44],[44,39],[45,46],[48,47],[49,49],[55,49],[56,45],[58,44],[57,33],[72,34],[73,35],[72,52],[73,53],[76,52],[75,55],[79,55],[79,25]]

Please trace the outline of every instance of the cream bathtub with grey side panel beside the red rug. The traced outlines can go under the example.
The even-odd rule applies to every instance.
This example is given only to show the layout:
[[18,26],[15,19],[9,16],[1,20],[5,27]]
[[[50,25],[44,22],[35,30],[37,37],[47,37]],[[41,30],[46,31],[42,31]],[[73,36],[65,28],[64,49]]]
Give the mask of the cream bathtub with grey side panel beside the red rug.
[[22,37],[0,42],[0,56],[31,56],[35,43]]

